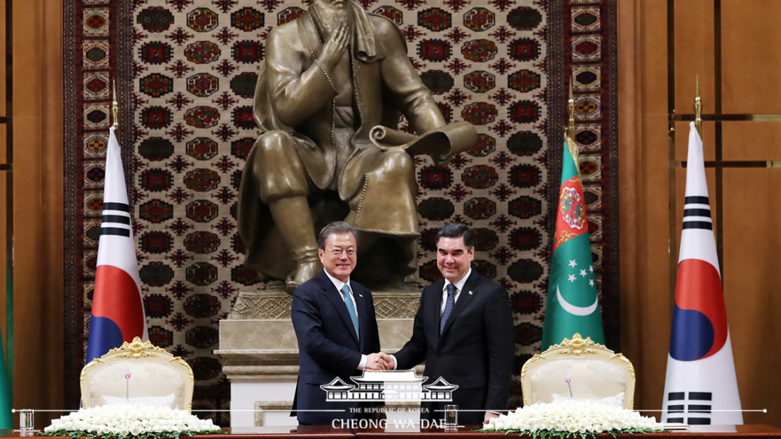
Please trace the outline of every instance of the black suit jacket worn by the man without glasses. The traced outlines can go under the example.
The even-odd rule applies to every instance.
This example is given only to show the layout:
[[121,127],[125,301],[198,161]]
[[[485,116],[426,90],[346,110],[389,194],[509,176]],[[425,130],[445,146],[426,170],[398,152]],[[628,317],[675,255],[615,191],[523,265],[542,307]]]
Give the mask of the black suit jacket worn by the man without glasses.
[[[472,271],[440,336],[444,279],[423,289],[415,314],[412,338],[395,353],[397,369],[410,369],[426,360],[424,383],[443,377],[458,384],[453,402],[462,424],[483,423],[486,410],[507,409],[508,387],[515,359],[512,312],[501,285]],[[440,420],[444,403],[423,403],[421,417]]]

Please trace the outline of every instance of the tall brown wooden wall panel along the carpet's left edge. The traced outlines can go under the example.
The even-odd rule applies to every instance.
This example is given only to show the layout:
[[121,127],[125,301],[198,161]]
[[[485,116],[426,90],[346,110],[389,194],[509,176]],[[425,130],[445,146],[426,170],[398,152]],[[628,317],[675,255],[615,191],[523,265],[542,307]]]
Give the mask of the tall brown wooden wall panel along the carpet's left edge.
[[62,409],[62,1],[12,17],[13,405]]

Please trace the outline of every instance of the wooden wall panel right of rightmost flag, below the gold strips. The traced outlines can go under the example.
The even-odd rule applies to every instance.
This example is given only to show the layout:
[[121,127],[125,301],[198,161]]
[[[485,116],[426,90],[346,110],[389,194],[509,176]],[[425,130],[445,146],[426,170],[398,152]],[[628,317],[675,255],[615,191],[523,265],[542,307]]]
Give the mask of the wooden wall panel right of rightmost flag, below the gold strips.
[[[781,412],[781,169],[724,171],[724,297],[744,409]],[[772,395],[772,397],[769,397]],[[748,412],[746,423],[769,416]]]

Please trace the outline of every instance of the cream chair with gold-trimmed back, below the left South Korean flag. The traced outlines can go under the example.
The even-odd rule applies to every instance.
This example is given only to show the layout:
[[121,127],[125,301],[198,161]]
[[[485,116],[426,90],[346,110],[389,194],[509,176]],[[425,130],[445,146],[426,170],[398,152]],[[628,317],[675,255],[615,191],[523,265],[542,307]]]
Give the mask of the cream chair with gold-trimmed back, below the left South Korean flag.
[[84,407],[130,403],[189,412],[194,380],[184,359],[136,337],[87,363],[80,386]]

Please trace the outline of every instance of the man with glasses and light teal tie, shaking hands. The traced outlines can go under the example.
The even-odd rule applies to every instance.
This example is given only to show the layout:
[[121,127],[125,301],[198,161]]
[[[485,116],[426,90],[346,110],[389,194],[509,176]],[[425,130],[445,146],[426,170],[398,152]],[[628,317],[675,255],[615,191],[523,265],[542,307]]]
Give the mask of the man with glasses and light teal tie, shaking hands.
[[291,318],[298,338],[298,383],[293,412],[303,425],[369,416],[366,403],[326,402],[320,388],[336,377],[351,384],[361,370],[383,370],[372,292],[350,280],[355,268],[355,230],[333,222],[317,239],[323,271],[293,293]]

